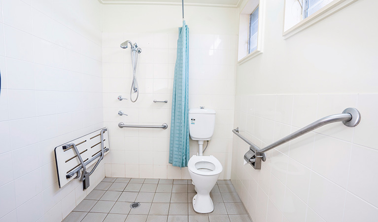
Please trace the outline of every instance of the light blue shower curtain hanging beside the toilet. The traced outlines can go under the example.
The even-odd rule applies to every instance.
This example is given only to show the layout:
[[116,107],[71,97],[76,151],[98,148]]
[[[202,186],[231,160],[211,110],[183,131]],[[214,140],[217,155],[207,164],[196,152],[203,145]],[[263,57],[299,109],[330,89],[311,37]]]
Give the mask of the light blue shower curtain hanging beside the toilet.
[[174,66],[169,163],[186,167],[189,161],[189,28],[178,28],[177,58]]

